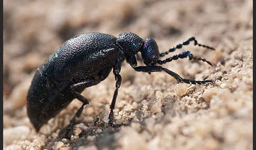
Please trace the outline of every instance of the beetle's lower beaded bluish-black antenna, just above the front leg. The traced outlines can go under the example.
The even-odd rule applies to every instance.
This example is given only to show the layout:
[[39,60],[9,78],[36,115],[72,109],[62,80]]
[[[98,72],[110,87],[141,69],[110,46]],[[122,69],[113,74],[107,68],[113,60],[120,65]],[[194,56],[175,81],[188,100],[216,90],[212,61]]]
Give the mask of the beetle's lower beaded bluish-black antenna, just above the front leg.
[[208,61],[206,59],[199,58],[199,57],[193,57],[192,53],[190,53],[190,51],[188,51],[188,50],[180,53],[179,55],[173,55],[172,57],[166,58],[164,60],[157,60],[157,63],[159,63],[159,65],[162,65],[164,63],[171,62],[172,60],[177,60],[179,58],[186,58],[188,56],[189,56],[189,60],[192,60],[192,59],[202,60],[212,66],[212,63],[210,61]]

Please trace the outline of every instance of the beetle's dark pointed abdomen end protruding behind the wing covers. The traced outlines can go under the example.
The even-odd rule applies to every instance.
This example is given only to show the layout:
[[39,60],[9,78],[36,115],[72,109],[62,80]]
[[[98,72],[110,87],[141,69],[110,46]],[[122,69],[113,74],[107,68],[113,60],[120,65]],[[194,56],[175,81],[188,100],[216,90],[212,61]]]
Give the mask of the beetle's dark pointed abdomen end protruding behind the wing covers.
[[27,93],[27,114],[36,131],[74,99],[69,86],[59,91],[45,65],[36,71]]

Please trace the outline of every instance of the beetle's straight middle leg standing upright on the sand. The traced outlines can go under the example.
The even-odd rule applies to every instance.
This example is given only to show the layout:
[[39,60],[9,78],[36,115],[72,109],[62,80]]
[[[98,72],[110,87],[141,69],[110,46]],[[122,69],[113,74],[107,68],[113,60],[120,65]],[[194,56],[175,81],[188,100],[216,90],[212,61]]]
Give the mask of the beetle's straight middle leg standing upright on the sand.
[[116,98],[117,98],[117,95],[118,95],[118,89],[120,88],[120,85],[121,85],[121,82],[122,82],[122,77],[121,75],[119,74],[121,71],[121,62],[119,59],[117,59],[116,63],[115,63],[115,66],[113,68],[113,72],[115,74],[115,92],[114,92],[114,95],[113,95],[113,99],[112,99],[112,102],[111,102],[111,105],[110,105],[110,115],[109,115],[109,124],[111,126],[114,126],[113,122],[114,122],[114,113],[113,113],[113,110],[115,109],[115,102],[116,102]]

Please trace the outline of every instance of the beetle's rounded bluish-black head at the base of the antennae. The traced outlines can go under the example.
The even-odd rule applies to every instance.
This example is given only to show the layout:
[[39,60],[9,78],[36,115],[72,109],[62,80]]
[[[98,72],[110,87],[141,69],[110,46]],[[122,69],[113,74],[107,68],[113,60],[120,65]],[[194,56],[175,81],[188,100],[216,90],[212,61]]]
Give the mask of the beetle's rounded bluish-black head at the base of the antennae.
[[153,66],[156,64],[159,59],[159,50],[154,39],[146,38],[144,47],[141,49],[141,55],[145,65]]

